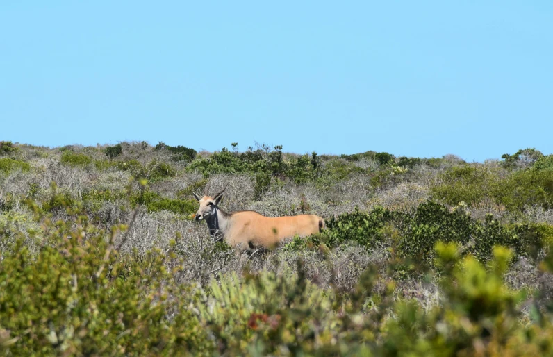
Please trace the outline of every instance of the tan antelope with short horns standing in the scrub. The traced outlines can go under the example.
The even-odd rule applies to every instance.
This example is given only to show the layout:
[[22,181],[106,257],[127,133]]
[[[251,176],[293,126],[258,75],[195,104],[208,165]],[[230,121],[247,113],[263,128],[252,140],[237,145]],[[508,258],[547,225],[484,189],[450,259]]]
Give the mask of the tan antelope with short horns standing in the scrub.
[[[226,186],[229,184],[227,183]],[[195,220],[207,222],[209,234],[215,239],[224,239],[231,247],[241,249],[274,248],[281,240],[295,235],[305,237],[324,229],[324,219],[316,215],[265,217],[253,210],[226,213],[217,204],[223,197],[222,191],[215,196],[204,196],[192,192],[199,202]]]

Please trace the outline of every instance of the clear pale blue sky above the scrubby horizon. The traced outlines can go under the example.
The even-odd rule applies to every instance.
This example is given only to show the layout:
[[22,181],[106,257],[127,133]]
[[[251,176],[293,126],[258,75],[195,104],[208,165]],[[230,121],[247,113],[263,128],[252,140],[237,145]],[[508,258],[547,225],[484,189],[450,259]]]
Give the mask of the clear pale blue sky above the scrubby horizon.
[[552,133],[551,0],[0,3],[0,140],[481,161]]

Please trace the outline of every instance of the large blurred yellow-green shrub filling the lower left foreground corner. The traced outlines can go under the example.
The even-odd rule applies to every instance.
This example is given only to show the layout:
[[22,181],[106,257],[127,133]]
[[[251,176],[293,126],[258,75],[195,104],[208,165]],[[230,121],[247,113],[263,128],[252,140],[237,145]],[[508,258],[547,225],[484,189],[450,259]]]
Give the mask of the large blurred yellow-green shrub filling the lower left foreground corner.
[[119,257],[115,238],[124,231],[117,226],[106,236],[85,217],[46,220],[35,236],[42,241],[38,254],[21,239],[4,251],[0,350],[10,356],[208,354],[213,344],[188,310],[190,299],[183,299],[190,288],[163,265],[171,258],[158,251],[140,260]]

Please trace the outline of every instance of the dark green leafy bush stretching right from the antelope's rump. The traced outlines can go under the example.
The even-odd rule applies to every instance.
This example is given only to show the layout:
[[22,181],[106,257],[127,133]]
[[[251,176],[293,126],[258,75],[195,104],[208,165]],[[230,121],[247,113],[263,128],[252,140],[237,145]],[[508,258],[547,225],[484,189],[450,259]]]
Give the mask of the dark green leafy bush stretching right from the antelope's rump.
[[438,242],[461,244],[464,254],[486,262],[492,258],[495,245],[513,249],[517,257],[536,258],[539,249],[553,239],[552,235],[547,225],[500,224],[491,215],[479,222],[461,209],[449,211],[446,206],[427,201],[413,213],[376,207],[369,213],[355,210],[333,217],[322,234],[293,240],[286,249],[318,247],[322,243],[336,247],[355,242],[368,249],[390,248],[399,258],[431,265]]

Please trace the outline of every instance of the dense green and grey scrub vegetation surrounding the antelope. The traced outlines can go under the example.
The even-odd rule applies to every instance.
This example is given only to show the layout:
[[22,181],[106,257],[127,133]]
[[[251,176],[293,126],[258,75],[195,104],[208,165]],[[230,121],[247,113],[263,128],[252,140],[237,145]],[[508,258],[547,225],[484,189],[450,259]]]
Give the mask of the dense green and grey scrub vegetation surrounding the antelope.
[[[553,156],[0,142],[8,356],[553,355]],[[221,206],[327,229],[240,254]]]

